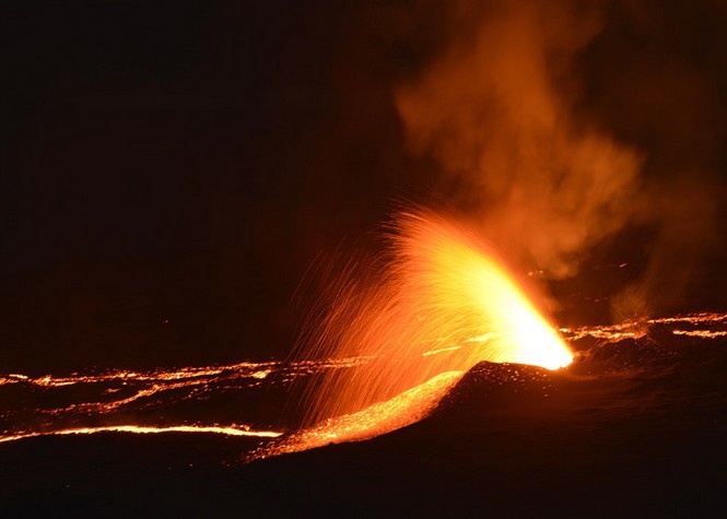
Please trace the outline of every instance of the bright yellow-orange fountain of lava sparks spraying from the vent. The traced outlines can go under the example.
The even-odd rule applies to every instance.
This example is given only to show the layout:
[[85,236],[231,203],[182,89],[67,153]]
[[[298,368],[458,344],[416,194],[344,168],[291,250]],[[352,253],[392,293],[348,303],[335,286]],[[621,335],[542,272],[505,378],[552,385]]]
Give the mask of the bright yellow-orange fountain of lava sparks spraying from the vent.
[[473,234],[443,216],[401,213],[374,266],[350,272],[308,330],[313,357],[367,356],[333,370],[309,398],[308,423],[360,412],[481,361],[555,369],[573,356]]

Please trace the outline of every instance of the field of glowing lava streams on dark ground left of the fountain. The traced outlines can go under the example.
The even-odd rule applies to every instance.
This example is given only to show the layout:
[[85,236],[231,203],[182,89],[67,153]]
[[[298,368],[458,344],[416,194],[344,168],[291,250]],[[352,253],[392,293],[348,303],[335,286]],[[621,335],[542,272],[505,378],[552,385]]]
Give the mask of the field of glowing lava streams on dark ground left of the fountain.
[[[366,358],[289,364],[243,362],[65,377],[0,375],[0,400],[7,402],[0,409],[0,443],[96,433],[201,433],[271,438],[281,433],[270,429],[270,418],[255,413],[253,408],[260,394],[321,370],[366,362]],[[219,403],[231,396],[247,403],[243,414],[251,423],[241,424],[239,409]]]

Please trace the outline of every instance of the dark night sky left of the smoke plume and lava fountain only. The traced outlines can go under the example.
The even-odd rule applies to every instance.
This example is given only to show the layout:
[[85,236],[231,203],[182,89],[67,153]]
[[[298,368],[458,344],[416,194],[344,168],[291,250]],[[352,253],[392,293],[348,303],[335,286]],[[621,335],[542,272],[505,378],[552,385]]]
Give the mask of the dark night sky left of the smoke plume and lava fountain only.
[[0,371],[288,353],[408,189],[394,64],[324,3],[3,3]]

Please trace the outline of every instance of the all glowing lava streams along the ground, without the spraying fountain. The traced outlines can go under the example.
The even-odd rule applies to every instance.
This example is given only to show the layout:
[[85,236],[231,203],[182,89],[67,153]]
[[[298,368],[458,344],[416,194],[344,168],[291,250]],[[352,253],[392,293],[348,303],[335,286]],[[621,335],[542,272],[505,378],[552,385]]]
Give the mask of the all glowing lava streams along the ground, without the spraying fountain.
[[[656,317],[621,325],[561,328],[560,331],[568,346],[581,352],[582,358],[600,358],[619,344],[622,349],[638,350],[638,344],[652,344],[655,338],[661,347],[667,344],[673,351],[682,351],[718,344],[719,339],[727,335],[727,314]],[[443,346],[421,355],[453,355],[459,350],[461,346]],[[286,393],[296,382],[305,385],[331,373],[355,377],[375,361],[349,357],[297,363],[244,362],[35,378],[4,374],[0,375],[0,400],[4,402],[0,410],[0,444],[46,435],[200,433],[257,437],[265,444],[248,458],[265,458],[329,443],[366,439],[403,427],[429,415],[461,377],[461,371],[445,371],[357,413],[324,420],[289,434],[282,434],[285,427],[271,429],[272,422],[266,416],[282,412],[268,401],[272,391]],[[609,364],[608,359],[596,361],[600,363],[596,373],[643,368],[641,361],[635,364],[622,357],[618,361],[618,366]],[[247,404],[231,406],[230,399]],[[258,405],[250,405],[258,399],[262,399]],[[263,409],[267,411],[261,416]],[[245,424],[241,424],[241,420]]]

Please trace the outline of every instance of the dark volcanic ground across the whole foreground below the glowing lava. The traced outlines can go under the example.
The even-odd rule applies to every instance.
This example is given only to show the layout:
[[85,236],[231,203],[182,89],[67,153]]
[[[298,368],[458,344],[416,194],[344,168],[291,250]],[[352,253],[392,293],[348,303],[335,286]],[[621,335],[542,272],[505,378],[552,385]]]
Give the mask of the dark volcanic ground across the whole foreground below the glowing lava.
[[724,337],[654,326],[574,345],[567,369],[483,363],[419,424],[248,465],[233,438],[8,444],[2,503],[8,517],[727,517]]

